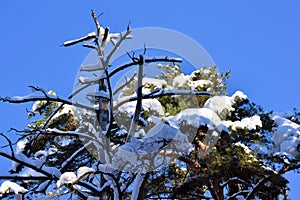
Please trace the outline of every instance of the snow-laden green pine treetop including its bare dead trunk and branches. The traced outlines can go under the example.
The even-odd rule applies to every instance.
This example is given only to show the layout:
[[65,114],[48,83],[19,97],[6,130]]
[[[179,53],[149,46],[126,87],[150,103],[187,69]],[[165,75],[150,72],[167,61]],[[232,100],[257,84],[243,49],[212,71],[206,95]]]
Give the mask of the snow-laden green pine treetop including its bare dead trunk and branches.
[[[185,74],[180,58],[149,58],[146,49],[112,69],[131,29],[112,34],[92,17],[96,32],[64,43],[97,53],[99,63],[81,67],[92,79],[80,76],[68,99],[33,86],[34,95],[0,98],[33,104],[28,126],[12,129],[16,143],[1,134],[0,156],[12,161],[11,176],[0,176],[2,198],[288,199],[283,175],[300,167],[296,109],[266,112],[243,92],[227,94],[229,71]],[[160,74],[143,76],[149,63]],[[111,77],[129,66],[137,73],[113,91]],[[71,101],[89,86],[97,88],[90,105]]]

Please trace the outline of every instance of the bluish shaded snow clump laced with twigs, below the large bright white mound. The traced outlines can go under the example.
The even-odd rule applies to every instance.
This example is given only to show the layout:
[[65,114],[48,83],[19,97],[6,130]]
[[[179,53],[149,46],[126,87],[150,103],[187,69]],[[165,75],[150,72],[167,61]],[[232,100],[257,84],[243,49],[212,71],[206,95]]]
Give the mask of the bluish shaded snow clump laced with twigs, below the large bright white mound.
[[142,139],[132,137],[130,142],[120,146],[113,156],[112,164],[118,169],[134,172],[138,170],[143,173],[161,166],[161,163],[156,162],[157,160],[169,159],[159,154],[162,149],[174,150],[177,152],[177,156],[180,156],[188,154],[192,147],[187,135],[164,122],[160,122]]

